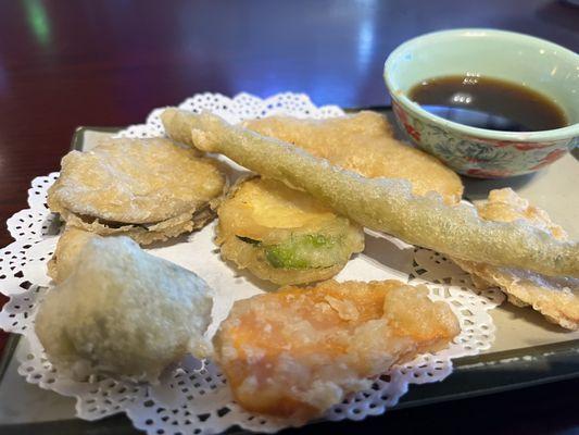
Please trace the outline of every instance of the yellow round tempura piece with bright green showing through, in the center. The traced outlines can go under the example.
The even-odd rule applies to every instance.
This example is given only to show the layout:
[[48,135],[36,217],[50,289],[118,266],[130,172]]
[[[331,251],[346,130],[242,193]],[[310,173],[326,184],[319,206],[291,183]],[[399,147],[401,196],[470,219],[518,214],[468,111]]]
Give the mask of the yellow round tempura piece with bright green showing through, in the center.
[[364,249],[360,226],[273,179],[239,182],[217,214],[222,256],[280,285],[327,279]]

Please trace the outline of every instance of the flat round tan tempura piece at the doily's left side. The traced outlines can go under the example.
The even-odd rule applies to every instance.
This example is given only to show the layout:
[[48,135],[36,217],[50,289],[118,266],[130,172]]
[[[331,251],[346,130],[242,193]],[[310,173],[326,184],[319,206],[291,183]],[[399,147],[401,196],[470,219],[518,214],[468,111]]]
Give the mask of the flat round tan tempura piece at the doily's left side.
[[109,139],[62,159],[50,210],[70,226],[139,244],[203,226],[225,177],[212,159],[167,139]]

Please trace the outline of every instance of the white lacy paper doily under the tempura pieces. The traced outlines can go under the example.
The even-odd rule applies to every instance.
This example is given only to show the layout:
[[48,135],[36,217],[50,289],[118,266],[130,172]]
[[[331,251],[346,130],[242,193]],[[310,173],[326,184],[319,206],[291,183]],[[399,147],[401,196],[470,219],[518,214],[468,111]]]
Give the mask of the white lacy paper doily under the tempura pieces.
[[[229,122],[270,114],[330,117],[343,113],[335,105],[316,108],[307,96],[295,94],[280,94],[268,99],[247,94],[235,98],[203,94],[187,99],[179,108],[211,110]],[[161,111],[154,110],[146,124],[131,126],[119,135],[162,135]],[[23,343],[28,347],[18,373],[41,388],[76,397],[76,411],[81,419],[97,420],[126,412],[134,425],[148,434],[210,434],[232,425],[259,432],[286,427],[286,421],[251,414],[237,406],[223,374],[209,361],[188,358],[167,370],[156,386],[108,377],[80,383],[61,376],[52,368],[34,333],[34,316],[43,295],[50,291],[46,262],[54,250],[60,223],[47,209],[46,197],[48,187],[56,177],[58,173],[52,173],[33,181],[28,190],[29,209],[17,212],[8,221],[15,241],[0,250],[0,291],[10,296],[10,301],[0,312],[0,327],[22,334],[25,337]],[[210,328],[213,332],[235,300],[273,288],[221,260],[213,241],[214,228],[213,223],[187,237],[148,249],[155,256],[194,271],[216,290],[214,322]],[[461,322],[462,332],[448,349],[436,355],[421,355],[408,363],[394,366],[376,378],[370,389],[332,407],[326,419],[362,420],[380,414],[399,401],[410,384],[443,380],[452,371],[453,358],[476,355],[488,349],[494,340],[494,325],[488,310],[503,301],[501,291],[474,290],[469,276],[445,257],[368,232],[365,251],[351,260],[337,279],[387,278],[426,284],[432,300],[450,304]]]

